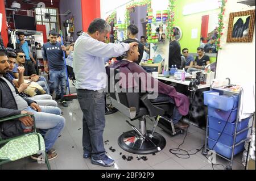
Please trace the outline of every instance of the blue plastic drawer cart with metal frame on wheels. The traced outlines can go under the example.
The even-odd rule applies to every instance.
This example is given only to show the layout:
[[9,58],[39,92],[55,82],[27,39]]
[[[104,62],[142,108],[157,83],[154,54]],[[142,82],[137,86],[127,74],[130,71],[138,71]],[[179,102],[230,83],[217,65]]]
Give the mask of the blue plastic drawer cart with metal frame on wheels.
[[[234,155],[244,150],[245,141],[252,125],[251,117],[240,120],[241,95],[224,89],[204,92],[204,104],[208,106],[207,129],[205,135],[204,155],[209,150],[230,162],[227,170],[232,169]],[[252,131],[252,130],[251,130]]]

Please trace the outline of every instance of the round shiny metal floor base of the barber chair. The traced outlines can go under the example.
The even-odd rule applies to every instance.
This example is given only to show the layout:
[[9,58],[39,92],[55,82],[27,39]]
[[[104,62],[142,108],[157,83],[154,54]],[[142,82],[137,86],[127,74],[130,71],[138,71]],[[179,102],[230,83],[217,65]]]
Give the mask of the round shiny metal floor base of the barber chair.
[[150,138],[151,131],[147,131],[145,139],[143,139],[135,131],[123,133],[118,138],[118,145],[125,151],[133,154],[153,154],[164,149],[166,139],[159,133],[154,133]]

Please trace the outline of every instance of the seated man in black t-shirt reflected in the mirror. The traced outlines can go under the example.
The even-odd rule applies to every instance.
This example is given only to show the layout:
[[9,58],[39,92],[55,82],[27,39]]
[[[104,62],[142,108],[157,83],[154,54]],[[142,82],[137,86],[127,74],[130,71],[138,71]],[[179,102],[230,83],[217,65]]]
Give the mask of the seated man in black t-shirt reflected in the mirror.
[[210,64],[210,57],[204,54],[204,49],[199,47],[197,48],[197,54],[195,63],[193,68],[188,69],[188,73],[192,73],[192,71],[201,71],[205,68],[205,66]]

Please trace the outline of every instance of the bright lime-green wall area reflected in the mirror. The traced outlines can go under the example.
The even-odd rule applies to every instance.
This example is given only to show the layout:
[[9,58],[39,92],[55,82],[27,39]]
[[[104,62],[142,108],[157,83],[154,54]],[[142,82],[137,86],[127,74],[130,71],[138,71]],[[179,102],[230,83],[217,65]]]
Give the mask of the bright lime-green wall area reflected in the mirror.
[[[196,53],[196,49],[200,47],[201,36],[201,22],[202,16],[216,14],[220,10],[204,11],[191,15],[183,15],[183,7],[187,4],[202,2],[203,0],[182,0],[175,1],[175,22],[174,25],[180,27],[183,35],[180,42],[181,49],[188,48],[189,52]],[[197,39],[191,39],[192,29],[198,29]],[[216,61],[216,58],[212,57],[211,62]]]

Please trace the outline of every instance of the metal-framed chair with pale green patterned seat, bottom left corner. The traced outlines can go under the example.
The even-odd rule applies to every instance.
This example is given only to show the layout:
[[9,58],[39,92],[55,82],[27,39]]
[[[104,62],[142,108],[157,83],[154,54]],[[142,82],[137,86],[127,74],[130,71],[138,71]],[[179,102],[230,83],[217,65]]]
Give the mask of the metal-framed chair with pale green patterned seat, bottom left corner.
[[47,168],[50,170],[51,167],[47,158],[44,139],[41,134],[36,132],[36,123],[33,115],[24,114],[7,117],[5,119],[0,119],[0,123],[4,121],[19,119],[20,117],[25,116],[31,116],[32,119],[34,119],[33,131],[32,133],[26,133],[21,136],[12,137],[6,140],[3,140],[0,137],[0,166],[5,163],[28,157],[30,155],[38,154],[40,151],[41,153],[44,153]]

